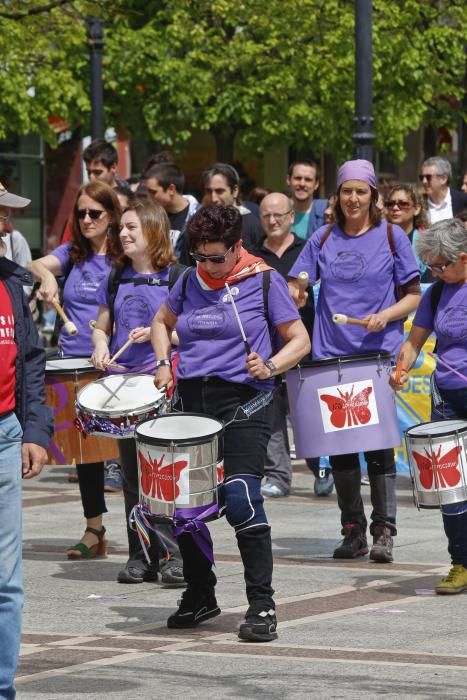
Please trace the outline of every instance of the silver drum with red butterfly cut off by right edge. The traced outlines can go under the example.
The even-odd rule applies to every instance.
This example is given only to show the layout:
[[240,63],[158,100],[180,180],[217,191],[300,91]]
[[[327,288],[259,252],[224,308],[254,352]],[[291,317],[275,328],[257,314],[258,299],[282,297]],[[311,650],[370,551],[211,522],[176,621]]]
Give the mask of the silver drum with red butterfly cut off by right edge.
[[421,423],[405,432],[417,508],[467,501],[467,422]]

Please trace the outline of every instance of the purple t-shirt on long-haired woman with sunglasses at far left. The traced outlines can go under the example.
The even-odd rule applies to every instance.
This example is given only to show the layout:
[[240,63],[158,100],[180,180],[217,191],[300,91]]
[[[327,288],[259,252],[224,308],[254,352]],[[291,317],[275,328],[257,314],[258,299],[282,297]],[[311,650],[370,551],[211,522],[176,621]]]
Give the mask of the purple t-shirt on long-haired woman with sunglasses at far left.
[[[51,253],[59,260],[64,274],[71,264],[70,250],[71,244],[65,243]],[[61,329],[60,347],[66,357],[86,357],[92,354],[92,331],[89,321],[97,318],[99,304],[96,292],[110,269],[111,265],[106,255],[93,255],[89,260],[71,268],[63,289],[63,305],[78,333],[68,335],[63,328]]]

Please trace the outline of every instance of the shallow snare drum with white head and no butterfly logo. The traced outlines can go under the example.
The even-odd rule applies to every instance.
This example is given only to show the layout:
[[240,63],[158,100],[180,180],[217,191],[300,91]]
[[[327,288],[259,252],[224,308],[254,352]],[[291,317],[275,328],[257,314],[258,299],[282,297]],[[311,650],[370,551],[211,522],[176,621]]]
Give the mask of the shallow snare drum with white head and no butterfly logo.
[[155,416],[164,403],[152,375],[112,374],[78,393],[76,413],[88,435],[126,439],[138,421]]

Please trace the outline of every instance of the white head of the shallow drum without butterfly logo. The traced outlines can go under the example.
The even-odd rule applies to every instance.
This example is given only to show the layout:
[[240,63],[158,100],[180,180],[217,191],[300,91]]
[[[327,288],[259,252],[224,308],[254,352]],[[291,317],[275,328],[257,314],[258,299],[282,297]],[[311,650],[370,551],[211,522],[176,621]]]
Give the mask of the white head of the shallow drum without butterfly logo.
[[157,406],[163,396],[150,374],[113,374],[87,384],[79,392],[77,404],[90,413],[120,416],[144,413]]

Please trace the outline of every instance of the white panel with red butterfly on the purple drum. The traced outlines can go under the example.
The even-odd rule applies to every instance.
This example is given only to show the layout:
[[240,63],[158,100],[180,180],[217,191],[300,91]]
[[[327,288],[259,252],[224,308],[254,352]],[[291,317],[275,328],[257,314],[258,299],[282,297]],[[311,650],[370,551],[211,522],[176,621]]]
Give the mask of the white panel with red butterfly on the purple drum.
[[318,389],[325,433],[379,423],[373,380]]

